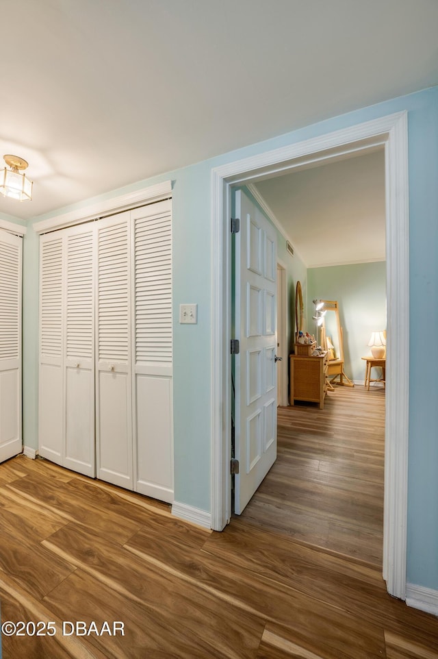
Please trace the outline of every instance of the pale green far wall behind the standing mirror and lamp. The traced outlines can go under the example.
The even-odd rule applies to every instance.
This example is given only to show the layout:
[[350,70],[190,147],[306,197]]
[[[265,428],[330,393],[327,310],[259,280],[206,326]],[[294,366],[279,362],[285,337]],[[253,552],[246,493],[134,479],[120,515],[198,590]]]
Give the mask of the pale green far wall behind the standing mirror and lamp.
[[310,268],[307,277],[308,314],[313,311],[313,299],[337,300],[344,331],[344,370],[350,379],[363,382],[361,357],[370,355],[371,332],[386,329],[386,263]]

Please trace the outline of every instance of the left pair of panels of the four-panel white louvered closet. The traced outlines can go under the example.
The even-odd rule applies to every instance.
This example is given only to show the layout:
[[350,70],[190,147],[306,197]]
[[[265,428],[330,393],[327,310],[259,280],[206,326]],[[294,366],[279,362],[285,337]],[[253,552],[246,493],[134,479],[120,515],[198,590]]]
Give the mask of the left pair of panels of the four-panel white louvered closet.
[[94,451],[94,225],[40,238],[39,451],[88,476]]

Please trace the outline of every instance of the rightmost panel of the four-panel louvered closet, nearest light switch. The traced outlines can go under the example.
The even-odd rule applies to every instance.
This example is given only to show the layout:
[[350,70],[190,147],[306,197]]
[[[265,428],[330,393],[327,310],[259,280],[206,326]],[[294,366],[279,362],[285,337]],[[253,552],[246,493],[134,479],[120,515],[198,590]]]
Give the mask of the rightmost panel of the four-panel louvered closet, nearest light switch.
[[131,211],[134,227],[136,490],[173,501],[171,202]]

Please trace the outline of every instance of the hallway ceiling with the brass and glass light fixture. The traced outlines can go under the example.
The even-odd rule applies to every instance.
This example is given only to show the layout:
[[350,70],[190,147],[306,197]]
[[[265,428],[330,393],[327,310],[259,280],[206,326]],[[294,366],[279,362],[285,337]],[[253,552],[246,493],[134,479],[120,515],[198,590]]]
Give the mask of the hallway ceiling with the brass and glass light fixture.
[[1,6],[0,156],[23,219],[438,84],[436,0]]

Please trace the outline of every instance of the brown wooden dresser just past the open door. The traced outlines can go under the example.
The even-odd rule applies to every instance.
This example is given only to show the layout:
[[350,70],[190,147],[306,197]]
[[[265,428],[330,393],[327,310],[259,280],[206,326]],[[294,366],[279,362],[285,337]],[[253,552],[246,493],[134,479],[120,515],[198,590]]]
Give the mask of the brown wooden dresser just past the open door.
[[327,391],[328,353],[320,357],[290,356],[290,404],[294,401],[319,403],[324,407]]

